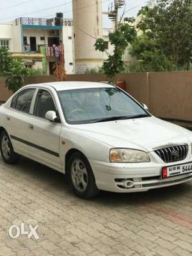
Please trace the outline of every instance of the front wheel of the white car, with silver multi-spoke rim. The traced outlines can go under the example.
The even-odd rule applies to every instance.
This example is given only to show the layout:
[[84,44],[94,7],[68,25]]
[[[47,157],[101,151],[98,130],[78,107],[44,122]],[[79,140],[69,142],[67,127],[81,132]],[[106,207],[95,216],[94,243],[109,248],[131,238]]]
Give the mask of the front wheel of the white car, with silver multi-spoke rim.
[[67,164],[67,178],[74,193],[80,198],[88,199],[99,194],[92,167],[81,152],[75,152],[70,156]]

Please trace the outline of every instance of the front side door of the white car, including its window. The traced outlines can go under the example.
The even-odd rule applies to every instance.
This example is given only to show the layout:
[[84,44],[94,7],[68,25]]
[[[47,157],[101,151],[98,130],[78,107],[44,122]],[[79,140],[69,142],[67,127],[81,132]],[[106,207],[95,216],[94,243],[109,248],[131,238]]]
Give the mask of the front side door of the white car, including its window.
[[54,97],[50,90],[39,88],[36,94],[33,115],[28,124],[29,153],[33,159],[50,167],[61,169],[61,123],[45,119],[47,111],[58,112]]

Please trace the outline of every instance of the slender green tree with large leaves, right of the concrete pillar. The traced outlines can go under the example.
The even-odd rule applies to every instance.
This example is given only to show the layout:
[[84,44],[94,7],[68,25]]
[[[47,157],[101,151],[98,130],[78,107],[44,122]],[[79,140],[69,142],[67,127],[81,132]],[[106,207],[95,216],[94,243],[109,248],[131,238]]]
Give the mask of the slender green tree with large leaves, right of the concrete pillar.
[[108,60],[103,65],[103,71],[109,79],[115,83],[115,76],[124,72],[125,65],[122,57],[125,49],[129,44],[132,44],[136,38],[136,29],[134,28],[134,19],[129,19],[129,24],[120,24],[118,29],[109,33],[109,42],[114,46],[113,53],[109,54],[106,51],[106,44],[102,38],[97,39],[95,43],[96,51],[107,52]]

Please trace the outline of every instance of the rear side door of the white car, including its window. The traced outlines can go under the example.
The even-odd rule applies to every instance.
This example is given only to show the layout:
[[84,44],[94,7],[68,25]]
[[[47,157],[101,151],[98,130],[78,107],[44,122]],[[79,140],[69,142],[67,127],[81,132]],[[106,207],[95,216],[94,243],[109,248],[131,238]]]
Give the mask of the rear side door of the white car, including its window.
[[8,132],[15,152],[28,156],[28,132],[31,115],[31,103],[36,88],[26,88],[13,97],[10,108],[6,111],[5,129]]

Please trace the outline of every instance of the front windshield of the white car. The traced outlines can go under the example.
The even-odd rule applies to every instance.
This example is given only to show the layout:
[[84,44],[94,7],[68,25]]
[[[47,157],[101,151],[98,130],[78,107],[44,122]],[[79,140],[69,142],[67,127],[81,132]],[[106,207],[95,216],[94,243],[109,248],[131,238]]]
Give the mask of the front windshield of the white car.
[[69,124],[86,124],[150,116],[129,95],[116,87],[58,92]]

